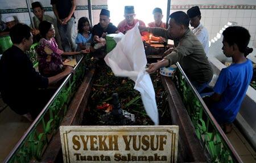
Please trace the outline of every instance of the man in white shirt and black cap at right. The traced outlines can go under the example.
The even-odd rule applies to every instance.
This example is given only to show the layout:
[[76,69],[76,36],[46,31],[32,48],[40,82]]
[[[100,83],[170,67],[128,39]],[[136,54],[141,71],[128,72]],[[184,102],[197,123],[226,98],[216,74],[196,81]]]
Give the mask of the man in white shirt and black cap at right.
[[201,42],[204,47],[205,53],[208,55],[209,52],[209,36],[207,29],[200,23],[201,12],[198,6],[189,8],[187,11],[188,17],[190,19],[190,25],[192,32],[196,35],[197,39]]

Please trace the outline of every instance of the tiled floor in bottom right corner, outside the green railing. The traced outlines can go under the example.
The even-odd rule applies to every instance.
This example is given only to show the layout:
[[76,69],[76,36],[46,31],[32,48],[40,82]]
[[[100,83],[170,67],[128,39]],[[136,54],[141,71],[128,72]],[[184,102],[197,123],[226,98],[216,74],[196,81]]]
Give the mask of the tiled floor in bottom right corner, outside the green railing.
[[256,152],[251,148],[251,145],[236,126],[233,125],[233,131],[226,136],[229,138],[243,162],[256,163]]

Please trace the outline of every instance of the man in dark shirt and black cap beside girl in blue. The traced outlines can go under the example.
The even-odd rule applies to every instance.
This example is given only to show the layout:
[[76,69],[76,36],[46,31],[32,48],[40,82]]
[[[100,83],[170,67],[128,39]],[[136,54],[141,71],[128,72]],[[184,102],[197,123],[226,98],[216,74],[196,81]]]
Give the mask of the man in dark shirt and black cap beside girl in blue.
[[110,11],[102,9],[100,13],[100,23],[93,26],[94,40],[101,42],[100,37],[105,38],[107,34],[119,33],[117,27],[110,23]]

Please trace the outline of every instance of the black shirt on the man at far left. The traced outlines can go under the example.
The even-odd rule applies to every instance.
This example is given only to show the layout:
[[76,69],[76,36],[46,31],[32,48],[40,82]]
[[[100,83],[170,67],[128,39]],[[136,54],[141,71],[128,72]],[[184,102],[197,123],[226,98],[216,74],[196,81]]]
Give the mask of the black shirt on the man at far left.
[[[0,91],[3,95],[3,100],[16,100],[27,95],[35,93],[38,81],[30,80],[28,75],[29,71],[33,67],[30,59],[26,54],[22,52],[18,47],[12,46],[7,49],[0,60]],[[47,86],[47,85],[46,85]],[[7,97],[7,98],[5,98]],[[7,102],[9,103],[9,102]]]

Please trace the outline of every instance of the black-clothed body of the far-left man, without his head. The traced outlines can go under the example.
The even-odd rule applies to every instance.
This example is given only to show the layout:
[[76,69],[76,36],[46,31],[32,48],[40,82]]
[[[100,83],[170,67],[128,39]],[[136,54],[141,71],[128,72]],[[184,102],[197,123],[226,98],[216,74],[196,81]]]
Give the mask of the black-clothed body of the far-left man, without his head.
[[39,113],[36,108],[41,108],[44,104],[42,100],[39,102],[38,88],[47,88],[48,79],[35,72],[27,55],[14,45],[7,49],[1,58],[0,74],[3,101],[15,113],[23,115],[29,111],[35,118]]

